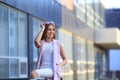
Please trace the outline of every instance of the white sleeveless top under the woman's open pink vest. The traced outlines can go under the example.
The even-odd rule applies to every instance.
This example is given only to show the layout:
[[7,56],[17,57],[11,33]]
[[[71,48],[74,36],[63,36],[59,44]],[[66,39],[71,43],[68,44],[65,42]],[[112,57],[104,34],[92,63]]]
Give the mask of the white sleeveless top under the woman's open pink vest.
[[42,48],[40,68],[52,68],[53,69],[53,42],[44,43]]

